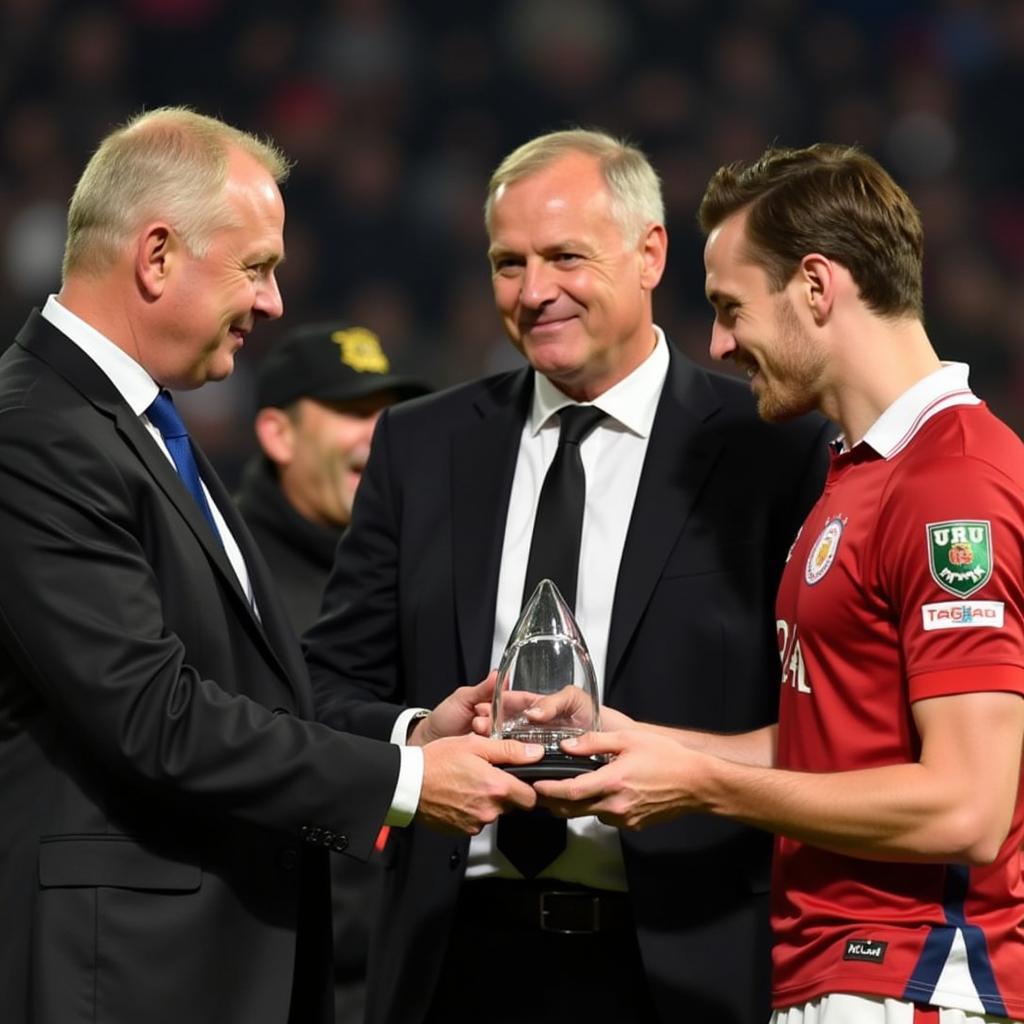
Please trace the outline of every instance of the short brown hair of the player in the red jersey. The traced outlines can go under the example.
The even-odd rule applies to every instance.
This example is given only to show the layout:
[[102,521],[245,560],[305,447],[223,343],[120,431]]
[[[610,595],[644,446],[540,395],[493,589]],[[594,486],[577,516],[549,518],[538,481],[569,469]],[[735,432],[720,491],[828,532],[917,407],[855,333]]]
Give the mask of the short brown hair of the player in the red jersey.
[[801,259],[820,253],[842,263],[869,309],[923,318],[924,232],[910,198],[856,146],[819,142],[772,147],[753,164],[712,176],[697,220],[705,234],[748,211],[750,258],[780,291]]

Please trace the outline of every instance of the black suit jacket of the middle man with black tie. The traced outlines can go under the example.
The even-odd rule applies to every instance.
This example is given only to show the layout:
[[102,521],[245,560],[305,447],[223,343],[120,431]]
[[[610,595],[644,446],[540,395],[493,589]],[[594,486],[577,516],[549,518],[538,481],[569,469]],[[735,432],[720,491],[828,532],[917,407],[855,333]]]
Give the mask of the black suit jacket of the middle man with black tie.
[[[403,403],[377,426],[325,612],[307,636],[318,714],[377,736],[488,670],[526,371]],[[739,731],[778,702],[774,594],[820,490],[828,428],[767,426],[749,387],[673,353],[615,586],[604,699],[645,720]],[[769,1014],[770,841],[688,817],[622,835],[638,936],[666,1020]],[[422,828],[385,850],[371,1024],[419,1022],[466,843]]]

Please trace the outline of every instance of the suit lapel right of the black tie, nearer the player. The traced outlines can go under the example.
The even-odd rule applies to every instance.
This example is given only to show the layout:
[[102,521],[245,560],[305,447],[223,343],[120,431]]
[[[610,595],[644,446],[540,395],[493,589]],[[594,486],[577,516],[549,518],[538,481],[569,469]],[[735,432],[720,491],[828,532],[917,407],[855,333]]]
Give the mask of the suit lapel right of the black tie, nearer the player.
[[671,361],[630,518],[608,631],[604,690],[643,615],[724,439],[708,428],[719,401],[705,373],[669,348]]

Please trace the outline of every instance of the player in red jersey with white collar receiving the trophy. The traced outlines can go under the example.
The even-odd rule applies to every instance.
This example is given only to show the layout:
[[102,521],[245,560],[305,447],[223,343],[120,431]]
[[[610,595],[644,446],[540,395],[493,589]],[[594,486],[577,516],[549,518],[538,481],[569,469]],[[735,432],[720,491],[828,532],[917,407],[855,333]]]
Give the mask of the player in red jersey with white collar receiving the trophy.
[[773,1024],[1024,1019],[1024,444],[932,347],[920,217],[867,155],[723,167],[699,219],[712,354],[765,419],[842,430],[779,587],[779,722],[611,712],[572,744],[611,762],[537,788],[775,833]]

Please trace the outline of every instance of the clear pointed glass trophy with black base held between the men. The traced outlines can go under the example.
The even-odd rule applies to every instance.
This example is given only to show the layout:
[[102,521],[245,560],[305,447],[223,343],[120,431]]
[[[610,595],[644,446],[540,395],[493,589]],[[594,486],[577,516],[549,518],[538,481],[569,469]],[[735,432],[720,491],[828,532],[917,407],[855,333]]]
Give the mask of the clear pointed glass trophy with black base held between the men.
[[[543,721],[526,717],[541,703],[549,715]],[[601,727],[597,679],[587,643],[572,611],[550,580],[542,580],[512,630],[498,669],[490,705],[490,735],[541,743],[541,761],[508,765],[517,778],[570,778],[593,771],[604,756],[566,754],[561,741]]]

